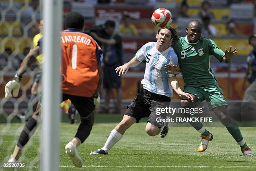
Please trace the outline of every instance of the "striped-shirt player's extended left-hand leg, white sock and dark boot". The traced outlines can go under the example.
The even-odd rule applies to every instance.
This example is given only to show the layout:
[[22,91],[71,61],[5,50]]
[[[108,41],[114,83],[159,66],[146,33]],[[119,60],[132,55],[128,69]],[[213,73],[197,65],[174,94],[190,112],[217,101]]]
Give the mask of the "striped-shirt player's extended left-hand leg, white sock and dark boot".
[[108,151],[123,137],[125,131],[134,123],[136,123],[134,117],[123,115],[123,120],[121,120],[121,122],[115,126],[115,129],[111,131],[105,145],[90,154],[108,154]]

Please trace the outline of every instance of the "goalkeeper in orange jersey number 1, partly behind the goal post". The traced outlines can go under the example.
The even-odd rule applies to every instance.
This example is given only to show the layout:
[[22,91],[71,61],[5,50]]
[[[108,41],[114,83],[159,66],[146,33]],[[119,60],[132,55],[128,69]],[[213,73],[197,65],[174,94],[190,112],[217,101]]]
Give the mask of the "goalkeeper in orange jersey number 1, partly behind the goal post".
[[[99,105],[98,90],[102,84],[100,62],[103,57],[101,48],[97,42],[92,37],[82,33],[84,17],[80,13],[69,13],[65,18],[65,25],[67,30],[61,32],[63,59],[61,64],[62,99],[63,101],[67,99],[71,100],[79,112],[81,120],[75,137],[65,146],[65,150],[74,166],[82,167],[82,159],[77,152],[77,147],[90,135],[92,125],[94,124],[93,111],[95,105]],[[75,38],[77,38],[76,41]],[[76,47],[76,50],[72,49],[73,47]],[[10,98],[12,95],[13,97],[17,97],[22,75],[35,61],[40,49],[39,46],[33,48],[23,60],[14,79],[9,81],[5,86],[5,98]],[[76,51],[76,63],[72,60],[72,57],[74,58],[72,52],[74,53],[74,51]],[[12,90],[13,94],[11,93]],[[36,129],[40,110],[41,106],[38,102],[36,112],[34,112],[32,118],[26,123],[8,162],[17,162],[22,148],[26,145],[33,131]]]

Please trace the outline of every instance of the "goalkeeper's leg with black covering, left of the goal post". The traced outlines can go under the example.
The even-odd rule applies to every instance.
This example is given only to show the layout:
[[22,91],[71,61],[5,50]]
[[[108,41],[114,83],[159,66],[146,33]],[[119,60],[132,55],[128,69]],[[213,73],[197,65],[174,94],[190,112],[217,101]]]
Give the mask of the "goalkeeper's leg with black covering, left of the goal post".
[[8,162],[17,162],[20,158],[20,154],[22,152],[22,148],[28,143],[29,137],[33,135],[34,131],[36,130],[38,114],[41,111],[41,105],[38,102],[36,107],[36,112],[34,112],[32,118],[28,120],[26,123],[22,133],[20,134],[20,138],[18,140],[17,145],[15,145],[13,154],[11,155]]

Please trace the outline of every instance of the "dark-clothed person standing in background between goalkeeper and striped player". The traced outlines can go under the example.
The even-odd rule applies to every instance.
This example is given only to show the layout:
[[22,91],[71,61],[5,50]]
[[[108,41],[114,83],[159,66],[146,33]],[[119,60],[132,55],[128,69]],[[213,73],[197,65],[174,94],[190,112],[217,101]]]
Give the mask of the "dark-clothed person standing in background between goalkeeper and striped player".
[[115,68],[123,65],[122,38],[115,33],[115,22],[107,20],[101,31],[90,32],[90,35],[100,43],[103,49],[104,67],[103,67],[103,88],[106,90],[104,107],[100,113],[109,113],[110,97],[114,99],[113,89],[116,89],[115,110],[113,113],[120,113],[122,89],[121,77],[115,72]]

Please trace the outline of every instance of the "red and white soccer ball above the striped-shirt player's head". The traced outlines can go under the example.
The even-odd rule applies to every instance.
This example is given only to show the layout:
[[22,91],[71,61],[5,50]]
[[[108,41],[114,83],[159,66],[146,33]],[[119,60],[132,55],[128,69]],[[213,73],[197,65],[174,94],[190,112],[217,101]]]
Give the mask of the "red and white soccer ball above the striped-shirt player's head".
[[172,23],[172,13],[166,8],[158,8],[152,14],[151,21],[156,28],[167,28]]

